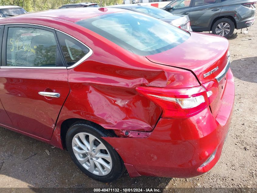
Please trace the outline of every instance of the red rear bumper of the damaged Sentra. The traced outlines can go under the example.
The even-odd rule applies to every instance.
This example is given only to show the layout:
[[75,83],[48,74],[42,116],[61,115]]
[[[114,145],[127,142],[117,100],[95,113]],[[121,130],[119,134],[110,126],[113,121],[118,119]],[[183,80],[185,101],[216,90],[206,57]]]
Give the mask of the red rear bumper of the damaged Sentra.
[[[234,106],[234,79],[227,86],[216,117],[207,108],[187,119],[161,118],[148,138],[104,138],[122,157],[131,177],[194,177],[219,160]],[[200,167],[216,151],[214,159]]]

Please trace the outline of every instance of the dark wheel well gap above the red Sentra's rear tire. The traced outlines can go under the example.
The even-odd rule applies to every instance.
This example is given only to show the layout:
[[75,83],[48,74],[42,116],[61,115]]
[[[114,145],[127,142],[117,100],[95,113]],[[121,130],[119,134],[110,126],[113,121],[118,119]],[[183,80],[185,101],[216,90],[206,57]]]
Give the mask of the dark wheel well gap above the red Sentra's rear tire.
[[[97,123],[94,123],[92,121],[85,120],[85,119],[71,118],[71,119],[65,120],[64,122],[61,123],[61,134],[60,134],[61,135],[62,145],[63,145],[64,149],[66,149],[66,134],[67,134],[67,131],[71,127],[71,125],[73,125],[74,123],[76,123],[78,121],[86,121],[86,122],[92,123],[93,125],[100,126]],[[100,127],[102,127],[102,126],[100,126]],[[102,127],[102,129],[106,130],[103,127]],[[108,129],[107,131],[111,134],[111,136],[116,137],[116,134],[114,133],[113,130],[109,130]]]

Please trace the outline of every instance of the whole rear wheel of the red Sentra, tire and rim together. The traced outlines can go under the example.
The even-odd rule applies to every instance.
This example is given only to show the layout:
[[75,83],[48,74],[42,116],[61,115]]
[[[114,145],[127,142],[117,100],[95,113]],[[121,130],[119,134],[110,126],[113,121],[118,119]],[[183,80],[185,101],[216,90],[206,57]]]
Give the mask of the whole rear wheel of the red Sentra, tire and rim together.
[[101,137],[113,136],[95,123],[79,121],[68,129],[66,147],[82,172],[94,180],[112,182],[123,174],[125,166],[116,150]]

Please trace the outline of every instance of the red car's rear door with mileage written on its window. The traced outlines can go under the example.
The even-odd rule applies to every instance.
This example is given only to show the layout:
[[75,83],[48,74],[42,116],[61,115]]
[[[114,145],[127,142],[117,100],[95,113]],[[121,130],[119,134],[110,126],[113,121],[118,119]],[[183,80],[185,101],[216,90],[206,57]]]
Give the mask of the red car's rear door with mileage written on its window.
[[6,25],[2,42],[0,98],[13,128],[47,140],[70,87],[54,30]]

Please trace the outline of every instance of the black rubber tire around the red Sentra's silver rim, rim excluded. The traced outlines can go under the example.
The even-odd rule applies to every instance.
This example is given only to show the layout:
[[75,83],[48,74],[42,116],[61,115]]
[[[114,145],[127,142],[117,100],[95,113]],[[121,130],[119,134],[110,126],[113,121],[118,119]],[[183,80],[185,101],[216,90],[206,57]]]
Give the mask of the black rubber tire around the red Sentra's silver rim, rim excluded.
[[[108,173],[107,175],[105,175],[105,176],[95,175],[95,174],[89,172],[87,169],[85,169],[78,162],[78,160],[72,150],[72,139],[76,134],[81,133],[81,132],[86,132],[86,133],[94,135],[108,149],[108,151],[111,155],[111,158],[112,158],[113,166],[112,166],[111,172]],[[110,136],[108,136],[108,134],[104,134],[101,131],[99,132],[99,131],[95,130],[95,128],[89,128],[89,127],[82,126],[82,125],[74,125],[74,126],[70,127],[70,129],[68,130],[68,132],[66,134],[66,147],[67,147],[67,150],[68,150],[72,160],[78,166],[78,168],[80,170],[82,170],[82,172],[84,172],[86,175],[88,175],[89,177],[91,177],[95,180],[98,180],[101,182],[112,182],[112,181],[116,180],[118,177],[120,177],[121,171],[123,173],[124,169],[122,168],[122,166],[124,166],[124,164],[122,163],[120,156],[116,152],[116,150],[109,143],[107,143],[104,139],[102,139],[102,137],[110,137]]]

